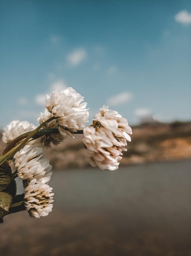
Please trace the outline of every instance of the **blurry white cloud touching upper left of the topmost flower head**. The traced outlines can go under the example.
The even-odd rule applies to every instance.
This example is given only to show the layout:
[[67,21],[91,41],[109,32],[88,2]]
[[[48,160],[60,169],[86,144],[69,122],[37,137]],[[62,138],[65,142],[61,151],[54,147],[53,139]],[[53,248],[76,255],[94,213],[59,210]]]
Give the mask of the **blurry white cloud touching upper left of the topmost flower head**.
[[44,106],[47,94],[51,94],[51,92],[55,90],[62,91],[66,89],[66,87],[67,85],[63,80],[55,81],[50,85],[50,88],[47,90],[47,92],[36,94],[34,100],[38,106]]

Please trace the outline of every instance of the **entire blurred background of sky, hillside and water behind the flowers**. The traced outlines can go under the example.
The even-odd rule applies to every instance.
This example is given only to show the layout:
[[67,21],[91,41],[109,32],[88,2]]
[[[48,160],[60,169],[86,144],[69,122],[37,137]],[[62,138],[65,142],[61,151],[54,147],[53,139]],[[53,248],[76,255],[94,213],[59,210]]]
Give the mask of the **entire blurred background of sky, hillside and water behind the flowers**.
[[53,212],[6,216],[1,253],[191,255],[190,70],[189,0],[0,0],[1,131],[68,86],[90,123],[105,104],[133,128],[117,172],[89,166],[81,135],[47,150]]

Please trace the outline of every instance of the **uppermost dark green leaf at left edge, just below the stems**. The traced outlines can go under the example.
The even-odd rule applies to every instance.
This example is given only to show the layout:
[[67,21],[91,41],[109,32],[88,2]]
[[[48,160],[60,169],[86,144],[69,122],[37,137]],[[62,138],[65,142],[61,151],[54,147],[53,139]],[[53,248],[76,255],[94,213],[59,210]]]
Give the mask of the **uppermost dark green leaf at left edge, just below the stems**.
[[0,191],[7,188],[11,183],[12,173],[8,162],[0,166]]

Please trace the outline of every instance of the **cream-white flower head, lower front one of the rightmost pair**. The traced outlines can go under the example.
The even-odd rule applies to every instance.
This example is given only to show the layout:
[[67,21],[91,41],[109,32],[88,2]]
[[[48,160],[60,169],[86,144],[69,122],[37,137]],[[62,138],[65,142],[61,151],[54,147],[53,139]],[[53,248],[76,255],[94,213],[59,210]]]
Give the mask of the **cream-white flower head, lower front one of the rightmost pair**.
[[[102,170],[117,170],[121,160],[122,149],[113,133],[105,127],[95,129],[93,126],[84,129],[83,142],[90,157],[90,164]],[[123,149],[126,150],[126,149]]]

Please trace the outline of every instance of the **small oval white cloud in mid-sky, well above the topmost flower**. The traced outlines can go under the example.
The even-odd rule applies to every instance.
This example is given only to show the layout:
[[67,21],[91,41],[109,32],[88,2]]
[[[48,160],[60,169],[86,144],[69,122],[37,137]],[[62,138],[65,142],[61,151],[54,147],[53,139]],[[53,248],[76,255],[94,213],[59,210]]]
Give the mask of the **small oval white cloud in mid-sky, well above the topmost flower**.
[[84,59],[86,59],[86,57],[87,57],[87,52],[83,48],[76,49],[66,56],[68,63],[71,66],[79,65]]

